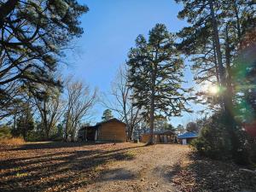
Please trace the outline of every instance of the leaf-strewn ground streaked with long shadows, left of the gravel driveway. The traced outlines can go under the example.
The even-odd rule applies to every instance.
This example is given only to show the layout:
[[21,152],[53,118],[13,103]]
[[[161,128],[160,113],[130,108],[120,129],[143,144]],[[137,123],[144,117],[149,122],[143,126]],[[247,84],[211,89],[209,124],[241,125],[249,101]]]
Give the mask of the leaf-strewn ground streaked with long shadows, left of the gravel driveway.
[[84,143],[77,147],[67,143],[28,146],[9,151],[11,154],[0,159],[0,191],[73,191],[94,182],[99,167],[112,160],[131,160],[127,150],[142,147],[112,145],[108,149],[110,144],[84,147]]

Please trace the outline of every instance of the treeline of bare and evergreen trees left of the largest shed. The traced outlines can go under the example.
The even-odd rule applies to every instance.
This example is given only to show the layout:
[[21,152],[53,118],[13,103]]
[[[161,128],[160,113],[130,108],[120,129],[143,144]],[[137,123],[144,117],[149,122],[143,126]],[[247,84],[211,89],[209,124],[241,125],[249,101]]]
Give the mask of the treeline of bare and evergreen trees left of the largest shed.
[[20,110],[6,119],[9,123],[2,129],[26,141],[75,141],[79,127],[88,120],[97,101],[97,90],[71,77],[66,82],[61,90],[42,87],[42,97],[24,92],[26,102],[19,103]]

